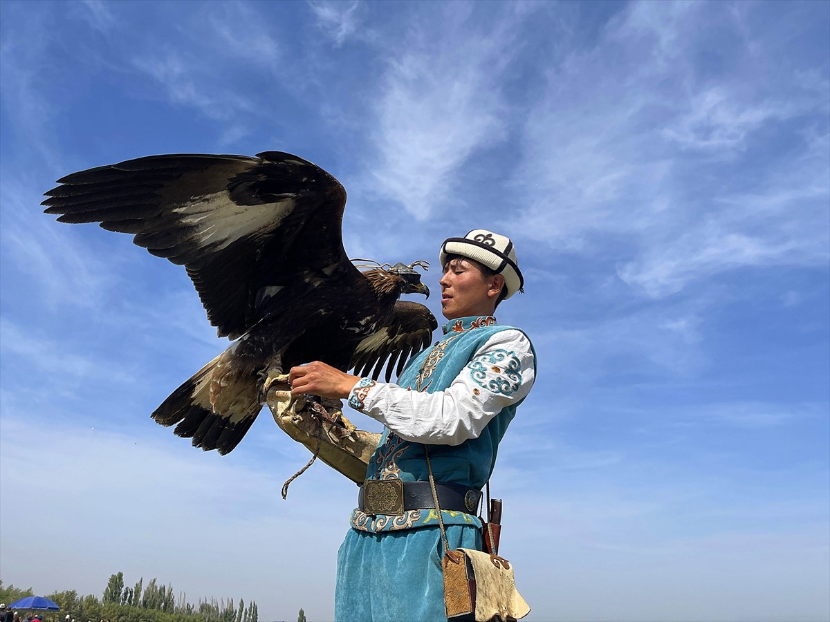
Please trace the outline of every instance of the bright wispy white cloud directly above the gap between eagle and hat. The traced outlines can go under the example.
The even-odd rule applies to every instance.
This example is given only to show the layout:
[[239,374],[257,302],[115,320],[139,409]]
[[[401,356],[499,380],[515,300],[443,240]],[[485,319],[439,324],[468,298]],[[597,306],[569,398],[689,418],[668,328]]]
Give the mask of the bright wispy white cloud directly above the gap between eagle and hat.
[[372,186],[418,220],[460,205],[458,169],[506,136],[501,80],[520,18],[501,11],[496,25],[479,29],[470,10],[444,5],[428,25],[413,23],[406,45],[390,50],[379,88]]

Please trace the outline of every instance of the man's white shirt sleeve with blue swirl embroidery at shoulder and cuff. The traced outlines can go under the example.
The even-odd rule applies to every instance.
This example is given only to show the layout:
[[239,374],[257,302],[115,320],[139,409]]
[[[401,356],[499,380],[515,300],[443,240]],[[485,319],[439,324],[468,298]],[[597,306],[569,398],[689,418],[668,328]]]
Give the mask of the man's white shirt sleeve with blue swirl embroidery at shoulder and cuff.
[[412,391],[362,378],[349,394],[349,406],[403,440],[461,445],[481,435],[505,406],[527,396],[535,373],[530,340],[507,329],[488,339],[444,391]]

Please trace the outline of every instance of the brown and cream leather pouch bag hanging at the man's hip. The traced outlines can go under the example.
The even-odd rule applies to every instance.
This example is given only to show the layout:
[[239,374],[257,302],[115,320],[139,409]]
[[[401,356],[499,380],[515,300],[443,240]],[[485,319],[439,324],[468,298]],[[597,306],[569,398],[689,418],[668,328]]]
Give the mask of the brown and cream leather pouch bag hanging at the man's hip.
[[530,613],[503,557],[457,548],[444,555],[443,571],[447,618],[472,613],[477,622],[510,622]]

